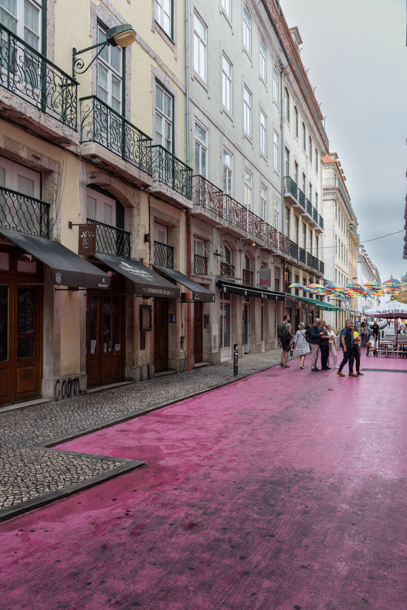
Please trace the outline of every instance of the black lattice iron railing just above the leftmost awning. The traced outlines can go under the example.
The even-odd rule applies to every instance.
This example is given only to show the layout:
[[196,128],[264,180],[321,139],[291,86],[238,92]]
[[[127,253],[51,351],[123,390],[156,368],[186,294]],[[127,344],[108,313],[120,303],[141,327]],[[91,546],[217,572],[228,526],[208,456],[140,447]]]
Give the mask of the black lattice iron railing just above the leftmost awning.
[[0,226],[49,238],[49,203],[0,187]]

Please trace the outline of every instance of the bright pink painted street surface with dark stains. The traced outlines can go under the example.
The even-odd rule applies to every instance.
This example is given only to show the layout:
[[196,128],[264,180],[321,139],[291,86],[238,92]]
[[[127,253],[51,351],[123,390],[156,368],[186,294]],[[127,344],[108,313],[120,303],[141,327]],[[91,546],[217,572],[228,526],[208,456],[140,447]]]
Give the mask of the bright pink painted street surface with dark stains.
[[306,364],[61,445],[147,465],[2,523],[1,608],[405,610],[407,360]]

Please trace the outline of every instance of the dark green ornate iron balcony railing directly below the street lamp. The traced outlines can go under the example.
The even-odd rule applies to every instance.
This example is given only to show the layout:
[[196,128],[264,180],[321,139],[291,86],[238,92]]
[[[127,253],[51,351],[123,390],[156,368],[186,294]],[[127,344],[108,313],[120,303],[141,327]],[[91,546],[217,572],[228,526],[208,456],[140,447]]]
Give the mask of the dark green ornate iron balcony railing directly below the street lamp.
[[151,176],[151,138],[95,95],[80,99],[80,142],[97,142]]

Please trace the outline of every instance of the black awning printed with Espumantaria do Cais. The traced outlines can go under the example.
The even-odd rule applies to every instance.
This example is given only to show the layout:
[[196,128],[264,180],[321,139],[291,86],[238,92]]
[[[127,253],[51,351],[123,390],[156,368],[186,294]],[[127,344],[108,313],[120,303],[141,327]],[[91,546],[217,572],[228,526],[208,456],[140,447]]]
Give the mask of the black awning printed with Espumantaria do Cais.
[[154,296],[166,299],[179,299],[180,289],[171,284],[158,273],[143,265],[140,260],[121,259],[111,254],[96,253],[94,257],[107,265],[111,270],[120,273],[134,284],[134,293],[144,298]]

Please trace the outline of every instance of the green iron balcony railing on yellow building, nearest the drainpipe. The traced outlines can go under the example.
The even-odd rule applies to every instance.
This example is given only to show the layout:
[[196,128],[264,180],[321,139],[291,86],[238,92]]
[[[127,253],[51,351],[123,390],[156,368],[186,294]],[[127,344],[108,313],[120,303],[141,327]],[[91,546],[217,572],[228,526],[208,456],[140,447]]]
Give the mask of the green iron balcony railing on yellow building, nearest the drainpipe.
[[151,147],[152,177],[187,199],[192,199],[192,170],[164,146]]

